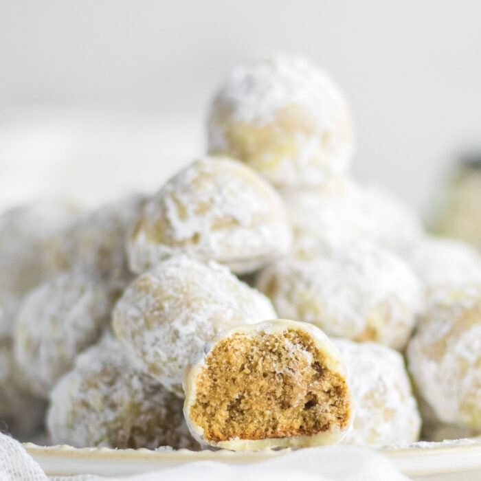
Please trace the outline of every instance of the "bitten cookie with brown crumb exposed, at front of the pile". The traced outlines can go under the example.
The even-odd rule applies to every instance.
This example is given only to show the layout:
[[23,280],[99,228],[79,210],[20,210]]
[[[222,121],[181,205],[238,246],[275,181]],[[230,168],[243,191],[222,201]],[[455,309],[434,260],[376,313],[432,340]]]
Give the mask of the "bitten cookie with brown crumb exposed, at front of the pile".
[[346,368],[309,324],[238,326],[204,346],[184,378],[183,412],[203,445],[227,449],[337,443],[353,421]]

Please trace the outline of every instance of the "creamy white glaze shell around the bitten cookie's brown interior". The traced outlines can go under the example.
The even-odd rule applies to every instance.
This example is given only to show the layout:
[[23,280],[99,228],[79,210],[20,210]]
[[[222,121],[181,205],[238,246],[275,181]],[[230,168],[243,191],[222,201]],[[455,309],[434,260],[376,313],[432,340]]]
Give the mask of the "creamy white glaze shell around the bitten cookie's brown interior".
[[[206,343],[196,355],[192,357],[192,361],[186,368],[183,377],[183,390],[186,393],[186,399],[183,405],[184,416],[186,417],[188,428],[194,438],[199,443],[206,446],[221,447],[225,449],[232,449],[234,451],[240,450],[252,450],[258,451],[260,449],[267,449],[269,447],[309,447],[319,445],[329,445],[338,443],[349,431],[354,418],[353,410],[350,411],[350,419],[348,421],[348,427],[346,429],[339,429],[333,427],[330,431],[320,432],[313,436],[292,436],[288,438],[265,438],[258,440],[239,439],[233,438],[227,441],[221,441],[215,443],[211,440],[206,440],[203,436],[203,428],[199,425],[195,425],[190,418],[190,409],[195,402],[197,392],[197,378],[201,371],[207,366],[206,360],[212,349],[217,343],[228,339],[232,335],[237,333],[244,333],[251,336],[269,336],[279,333],[284,333],[287,330],[301,331],[307,333],[313,340],[315,346],[324,355],[324,366],[335,374],[339,374],[343,379],[346,378],[346,366],[342,361],[339,352],[328,339],[328,337],[315,326],[306,324],[304,322],[295,322],[284,319],[267,320],[258,324],[251,324],[249,326],[236,326],[223,333],[220,333],[216,337]],[[306,352],[306,356],[312,356],[311,353]],[[279,366],[282,370],[282,366]],[[346,396],[350,398],[351,392],[348,390]],[[351,403],[351,401],[349,401]]]

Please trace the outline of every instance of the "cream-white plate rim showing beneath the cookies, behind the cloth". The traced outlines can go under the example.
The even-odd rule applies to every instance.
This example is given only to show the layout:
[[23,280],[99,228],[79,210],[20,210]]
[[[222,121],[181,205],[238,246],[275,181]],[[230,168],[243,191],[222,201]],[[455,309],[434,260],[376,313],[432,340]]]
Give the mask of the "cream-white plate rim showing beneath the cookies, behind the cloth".
[[[289,452],[289,449],[258,452],[76,449],[69,446],[40,447],[32,443],[26,443],[24,447],[48,476],[74,476],[85,473],[98,476],[128,476],[161,471],[200,460],[242,465],[284,456]],[[481,480],[480,440],[416,443],[410,447],[383,448],[381,452],[406,476],[414,480]]]

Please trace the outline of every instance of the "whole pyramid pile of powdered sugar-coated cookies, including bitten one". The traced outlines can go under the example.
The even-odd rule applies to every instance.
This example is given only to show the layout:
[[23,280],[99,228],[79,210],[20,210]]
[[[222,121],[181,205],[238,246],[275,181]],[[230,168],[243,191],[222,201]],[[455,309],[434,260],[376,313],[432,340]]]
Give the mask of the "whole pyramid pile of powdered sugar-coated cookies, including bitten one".
[[350,176],[332,80],[300,58],[238,67],[208,137],[153,195],[0,217],[12,433],[45,418],[78,447],[408,444],[404,353],[429,435],[481,431],[481,259]]

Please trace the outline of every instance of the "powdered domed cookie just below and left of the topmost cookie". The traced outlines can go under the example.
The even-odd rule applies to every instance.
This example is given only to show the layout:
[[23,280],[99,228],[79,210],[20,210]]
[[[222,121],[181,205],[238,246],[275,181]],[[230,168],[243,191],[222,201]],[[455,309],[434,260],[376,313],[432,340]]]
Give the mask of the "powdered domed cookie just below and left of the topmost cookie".
[[206,157],[173,177],[148,202],[128,243],[142,273],[172,254],[254,271],[291,247],[282,201],[256,172],[232,159]]

